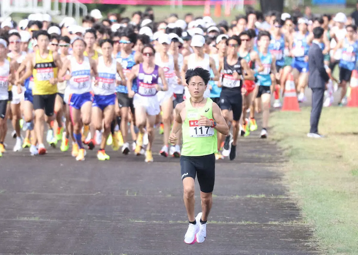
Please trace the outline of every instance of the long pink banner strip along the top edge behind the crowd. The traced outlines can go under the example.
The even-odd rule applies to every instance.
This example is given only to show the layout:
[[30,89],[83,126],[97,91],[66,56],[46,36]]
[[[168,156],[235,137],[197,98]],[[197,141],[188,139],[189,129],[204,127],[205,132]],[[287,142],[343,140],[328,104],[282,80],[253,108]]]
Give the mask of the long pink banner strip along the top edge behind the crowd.
[[[64,0],[66,1],[66,0]],[[82,4],[122,4],[122,5],[172,5],[172,1],[168,0],[78,0]],[[63,2],[63,1],[61,1]],[[190,1],[183,0],[183,5],[205,5],[205,0]],[[230,1],[228,1],[230,2]],[[215,5],[216,1],[210,1],[211,5]],[[233,1],[233,4],[238,1]],[[256,0],[244,0],[245,5],[255,4]],[[175,5],[179,5],[179,1],[175,1]]]

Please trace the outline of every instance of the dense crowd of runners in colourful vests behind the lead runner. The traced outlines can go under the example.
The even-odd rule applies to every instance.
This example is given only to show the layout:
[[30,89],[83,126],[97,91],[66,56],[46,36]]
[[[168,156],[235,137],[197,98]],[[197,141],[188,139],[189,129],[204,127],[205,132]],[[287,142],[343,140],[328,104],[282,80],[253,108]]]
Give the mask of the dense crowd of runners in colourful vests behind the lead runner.
[[[345,103],[358,50],[357,27],[351,23],[343,13],[309,20],[255,10],[231,23],[192,14],[154,21],[151,8],[120,20],[92,10],[82,24],[71,17],[57,24],[48,14],[31,14],[18,25],[5,19],[0,33],[0,156],[23,148],[45,154],[46,140],[63,152],[72,143],[76,160],[84,160],[86,149],[95,147],[98,159],[107,160],[106,145],[111,145],[152,162],[159,127],[163,147],[155,153],[180,157],[182,131],[169,144],[174,109],[190,97],[185,73],[202,67],[211,73],[204,97],[219,105],[232,127],[227,136],[218,135],[215,157],[233,160],[238,136],[258,129],[258,113],[263,116],[260,137],[267,137],[271,102],[281,106],[289,73],[298,101],[305,100],[315,27],[325,30],[321,47],[331,74],[325,105],[332,104],[339,87],[338,104]],[[339,77],[333,77],[337,64]],[[4,143],[9,118],[14,148]],[[195,132],[208,135],[205,129]]]

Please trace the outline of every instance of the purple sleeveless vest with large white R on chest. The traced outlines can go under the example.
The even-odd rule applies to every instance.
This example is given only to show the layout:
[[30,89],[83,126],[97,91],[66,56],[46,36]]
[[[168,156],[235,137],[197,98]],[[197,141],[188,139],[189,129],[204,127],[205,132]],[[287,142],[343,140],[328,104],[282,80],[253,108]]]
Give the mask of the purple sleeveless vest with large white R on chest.
[[143,64],[139,64],[139,72],[137,76],[138,95],[141,96],[155,96],[158,92],[155,85],[158,84],[159,66],[155,65],[152,73],[146,73],[143,69]]

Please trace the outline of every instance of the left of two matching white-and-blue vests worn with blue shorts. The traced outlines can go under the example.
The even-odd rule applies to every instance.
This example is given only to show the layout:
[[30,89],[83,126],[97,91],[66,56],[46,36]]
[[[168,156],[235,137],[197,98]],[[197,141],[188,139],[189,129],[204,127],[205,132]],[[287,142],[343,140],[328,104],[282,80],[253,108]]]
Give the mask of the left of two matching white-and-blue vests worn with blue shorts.
[[88,57],[83,57],[80,64],[76,58],[72,57],[71,61],[71,79],[68,82],[70,94],[83,94],[91,91],[91,65]]

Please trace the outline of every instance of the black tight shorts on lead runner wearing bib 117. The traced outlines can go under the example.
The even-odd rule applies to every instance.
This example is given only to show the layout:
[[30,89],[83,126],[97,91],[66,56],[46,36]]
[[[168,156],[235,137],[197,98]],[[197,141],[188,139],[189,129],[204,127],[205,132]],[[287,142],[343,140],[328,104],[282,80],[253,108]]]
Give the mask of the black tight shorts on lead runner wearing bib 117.
[[198,175],[200,191],[204,193],[213,192],[215,182],[215,155],[205,156],[181,156],[180,167],[182,168],[182,181],[186,177]]

